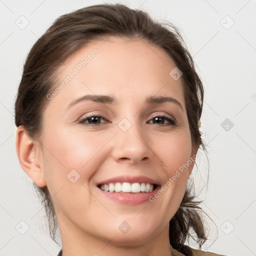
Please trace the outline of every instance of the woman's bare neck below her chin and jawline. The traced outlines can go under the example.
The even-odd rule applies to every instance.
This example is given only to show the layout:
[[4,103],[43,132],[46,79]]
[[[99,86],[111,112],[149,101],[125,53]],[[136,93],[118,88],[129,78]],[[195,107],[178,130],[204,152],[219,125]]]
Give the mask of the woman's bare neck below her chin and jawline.
[[79,229],[76,225],[58,218],[62,242],[62,256],[173,256],[169,243],[168,225],[159,233],[147,239],[132,235],[128,241],[120,239],[119,234],[110,239],[96,237]]

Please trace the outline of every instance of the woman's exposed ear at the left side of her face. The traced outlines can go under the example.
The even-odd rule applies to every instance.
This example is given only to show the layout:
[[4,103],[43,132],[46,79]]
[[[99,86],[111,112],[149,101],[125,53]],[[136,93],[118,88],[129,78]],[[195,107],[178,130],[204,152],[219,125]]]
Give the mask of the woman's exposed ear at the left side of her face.
[[38,159],[39,146],[28,136],[23,125],[16,131],[16,152],[21,168],[40,187],[46,186],[43,170]]

